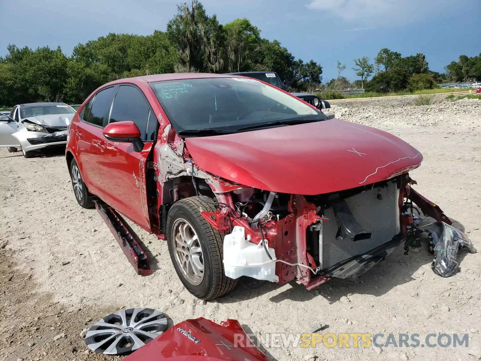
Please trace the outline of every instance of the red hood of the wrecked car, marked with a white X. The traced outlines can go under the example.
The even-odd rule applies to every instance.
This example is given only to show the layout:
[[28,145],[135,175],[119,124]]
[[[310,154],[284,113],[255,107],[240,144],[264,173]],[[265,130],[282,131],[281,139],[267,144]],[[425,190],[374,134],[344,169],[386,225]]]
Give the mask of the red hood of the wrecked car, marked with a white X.
[[422,155],[385,131],[339,119],[186,138],[198,166],[273,192],[322,194],[383,181],[417,168]]

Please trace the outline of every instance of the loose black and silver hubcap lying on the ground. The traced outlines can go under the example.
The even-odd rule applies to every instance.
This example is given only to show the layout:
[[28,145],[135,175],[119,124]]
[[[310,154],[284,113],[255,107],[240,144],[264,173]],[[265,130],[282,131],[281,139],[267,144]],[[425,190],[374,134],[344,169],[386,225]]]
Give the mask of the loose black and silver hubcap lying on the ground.
[[155,309],[123,309],[104,317],[85,335],[87,347],[105,355],[135,351],[167,329],[165,314]]

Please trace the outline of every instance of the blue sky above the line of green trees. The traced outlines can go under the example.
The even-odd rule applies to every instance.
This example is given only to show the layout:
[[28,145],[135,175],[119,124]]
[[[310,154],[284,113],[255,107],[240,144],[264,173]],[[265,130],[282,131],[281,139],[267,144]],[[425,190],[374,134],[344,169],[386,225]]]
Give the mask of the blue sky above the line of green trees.
[[[7,45],[62,47],[109,32],[165,30],[181,0],[0,0],[0,56]],[[203,0],[221,23],[247,17],[267,39],[296,57],[323,66],[323,78],[356,79],[353,59],[373,59],[381,48],[403,56],[422,52],[430,69],[481,52],[481,0]]]

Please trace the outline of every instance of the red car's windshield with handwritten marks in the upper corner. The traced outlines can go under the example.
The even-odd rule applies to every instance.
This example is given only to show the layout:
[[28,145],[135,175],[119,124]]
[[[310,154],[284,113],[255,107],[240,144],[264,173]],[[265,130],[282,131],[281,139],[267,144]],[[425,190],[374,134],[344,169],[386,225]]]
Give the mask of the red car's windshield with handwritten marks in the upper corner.
[[215,77],[150,84],[177,132],[235,131],[276,121],[316,121],[320,111],[254,79]]

